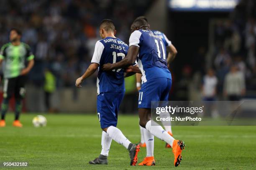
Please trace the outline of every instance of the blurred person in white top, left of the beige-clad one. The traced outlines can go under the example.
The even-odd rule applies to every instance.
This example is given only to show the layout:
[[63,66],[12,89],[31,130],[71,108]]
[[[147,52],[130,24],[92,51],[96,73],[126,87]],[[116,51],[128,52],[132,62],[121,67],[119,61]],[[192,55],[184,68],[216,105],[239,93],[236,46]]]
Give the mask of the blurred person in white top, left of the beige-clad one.
[[202,96],[205,101],[216,100],[218,79],[215,76],[214,70],[211,68],[207,71],[207,75],[203,77]]

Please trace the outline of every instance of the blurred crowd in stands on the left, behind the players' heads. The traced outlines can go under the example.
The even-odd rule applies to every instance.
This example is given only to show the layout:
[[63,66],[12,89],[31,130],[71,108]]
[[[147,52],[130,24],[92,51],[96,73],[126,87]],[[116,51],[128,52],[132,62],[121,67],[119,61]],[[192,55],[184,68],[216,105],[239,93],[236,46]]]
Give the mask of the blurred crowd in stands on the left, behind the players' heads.
[[[0,45],[10,28],[22,31],[22,41],[34,52],[31,83],[44,86],[45,72],[56,77],[56,87],[74,87],[90,64],[102,19],[113,19],[117,37],[128,42],[130,25],[153,0],[1,0]],[[49,75],[49,74],[48,74]],[[47,78],[46,78],[47,79]],[[87,83],[94,83],[96,75]],[[94,84],[95,85],[95,84]]]

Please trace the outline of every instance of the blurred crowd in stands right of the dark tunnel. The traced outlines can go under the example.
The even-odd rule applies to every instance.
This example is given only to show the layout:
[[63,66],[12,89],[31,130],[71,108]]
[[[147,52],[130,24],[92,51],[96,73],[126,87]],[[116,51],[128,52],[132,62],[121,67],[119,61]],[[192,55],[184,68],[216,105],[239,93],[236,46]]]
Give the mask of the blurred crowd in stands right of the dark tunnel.
[[[251,92],[256,90],[256,1],[241,0],[228,20],[217,21],[214,35],[211,68],[206,72],[199,70],[204,75],[204,100],[216,100],[216,97],[221,100],[223,96],[228,100],[240,100],[245,95],[253,97]],[[204,56],[204,50],[199,50],[199,54]],[[202,65],[205,61],[199,63]]]

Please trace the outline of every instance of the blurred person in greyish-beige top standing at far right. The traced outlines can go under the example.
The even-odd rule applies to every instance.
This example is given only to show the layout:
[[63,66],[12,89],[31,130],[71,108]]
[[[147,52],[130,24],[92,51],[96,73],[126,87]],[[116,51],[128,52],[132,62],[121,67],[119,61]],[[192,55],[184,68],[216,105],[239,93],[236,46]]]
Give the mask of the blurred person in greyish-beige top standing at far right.
[[238,70],[236,65],[232,65],[230,72],[225,77],[224,82],[224,95],[230,101],[237,101],[241,96],[245,95],[246,86],[244,75]]

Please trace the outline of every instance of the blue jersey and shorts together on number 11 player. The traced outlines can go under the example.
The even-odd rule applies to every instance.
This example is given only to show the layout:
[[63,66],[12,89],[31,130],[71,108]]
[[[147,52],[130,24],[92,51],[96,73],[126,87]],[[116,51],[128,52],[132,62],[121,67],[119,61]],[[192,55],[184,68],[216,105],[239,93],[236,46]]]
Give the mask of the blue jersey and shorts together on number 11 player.
[[129,46],[140,48],[138,66],[142,72],[138,107],[151,108],[151,101],[168,100],[172,75],[167,68],[166,45],[159,35],[151,30],[136,30],[131,34]]

